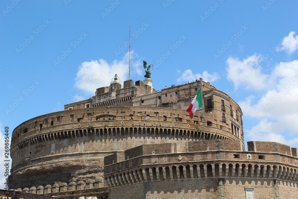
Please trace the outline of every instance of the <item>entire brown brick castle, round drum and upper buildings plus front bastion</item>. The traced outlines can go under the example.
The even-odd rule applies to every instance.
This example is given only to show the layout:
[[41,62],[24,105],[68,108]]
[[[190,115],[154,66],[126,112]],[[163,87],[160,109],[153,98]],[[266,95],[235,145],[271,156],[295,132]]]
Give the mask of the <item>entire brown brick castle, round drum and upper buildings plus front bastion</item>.
[[[202,88],[201,109],[185,111]],[[10,189],[60,198],[297,198],[298,150],[248,142],[242,111],[199,81],[156,91],[115,75],[95,96],[13,130]],[[204,125],[203,125],[204,121]]]

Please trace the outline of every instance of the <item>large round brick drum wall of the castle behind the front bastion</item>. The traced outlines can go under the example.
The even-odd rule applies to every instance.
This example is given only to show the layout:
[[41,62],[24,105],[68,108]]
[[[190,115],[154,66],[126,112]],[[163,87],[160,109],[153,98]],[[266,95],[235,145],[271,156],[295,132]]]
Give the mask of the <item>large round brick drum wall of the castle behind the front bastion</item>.
[[[214,118],[212,114],[204,115],[205,134],[202,121],[194,124],[187,115],[180,109],[110,107],[66,110],[32,118],[13,131],[10,186],[103,180],[105,156],[142,144],[180,143],[177,150],[181,151],[185,148],[179,147],[186,141],[240,141],[231,129],[207,126],[209,118]],[[198,117],[200,112],[195,115]]]

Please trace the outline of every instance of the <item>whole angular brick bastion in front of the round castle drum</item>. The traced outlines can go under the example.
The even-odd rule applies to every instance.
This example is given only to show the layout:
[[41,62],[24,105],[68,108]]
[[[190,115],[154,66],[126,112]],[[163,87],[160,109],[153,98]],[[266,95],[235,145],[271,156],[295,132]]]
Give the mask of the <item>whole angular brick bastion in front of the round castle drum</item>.
[[[202,147],[198,148],[200,144]],[[115,199],[135,195],[137,198],[238,199],[246,198],[246,189],[254,192],[254,198],[296,198],[298,158],[280,153],[282,150],[272,152],[274,148],[289,146],[255,143],[259,148],[270,144],[273,147],[266,151],[271,152],[248,152],[237,150],[241,146],[239,141],[191,141],[185,148],[192,152],[183,153],[173,150],[168,153],[173,145],[159,144],[150,145],[150,151],[141,153],[141,149],[147,148],[143,145],[130,149],[139,152],[138,157],[114,159],[114,163],[105,164],[105,183],[110,197]],[[157,149],[164,153],[150,153]],[[105,159],[110,162],[113,158]]]

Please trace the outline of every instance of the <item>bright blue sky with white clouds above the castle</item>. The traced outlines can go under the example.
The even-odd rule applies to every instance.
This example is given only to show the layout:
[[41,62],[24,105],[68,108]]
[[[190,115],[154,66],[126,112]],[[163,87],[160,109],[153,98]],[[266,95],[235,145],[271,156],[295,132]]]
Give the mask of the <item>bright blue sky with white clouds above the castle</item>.
[[202,77],[240,105],[245,141],[298,147],[297,6],[280,0],[1,0],[0,147],[4,127],[11,135],[30,118],[87,99],[115,73],[127,80],[129,26],[131,79],[144,79],[142,60],[154,64],[156,90]]

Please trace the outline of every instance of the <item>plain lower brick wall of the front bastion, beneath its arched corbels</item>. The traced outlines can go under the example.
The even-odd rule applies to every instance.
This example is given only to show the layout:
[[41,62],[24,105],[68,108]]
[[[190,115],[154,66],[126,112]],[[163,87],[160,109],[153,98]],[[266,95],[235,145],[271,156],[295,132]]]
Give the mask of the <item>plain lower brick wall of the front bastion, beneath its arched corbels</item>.
[[297,183],[258,178],[201,178],[145,181],[109,189],[109,197],[200,199],[297,199]]

